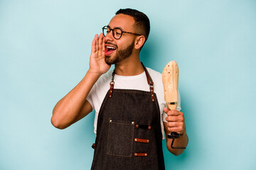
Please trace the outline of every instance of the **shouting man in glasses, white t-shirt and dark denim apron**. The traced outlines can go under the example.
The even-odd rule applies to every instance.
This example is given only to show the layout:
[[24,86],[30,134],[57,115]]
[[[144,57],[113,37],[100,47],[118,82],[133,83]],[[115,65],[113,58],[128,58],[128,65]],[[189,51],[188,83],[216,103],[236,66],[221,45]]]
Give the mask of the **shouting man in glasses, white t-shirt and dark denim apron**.
[[[149,18],[134,9],[120,9],[102,31],[92,41],[89,70],[58,101],[51,122],[64,129],[95,109],[92,169],[164,169],[164,130],[181,135],[174,146],[186,146],[188,136],[183,113],[164,108],[161,74],[139,60],[149,36]],[[107,72],[111,64],[114,71]],[[183,152],[171,148],[171,139],[166,141],[171,153]]]

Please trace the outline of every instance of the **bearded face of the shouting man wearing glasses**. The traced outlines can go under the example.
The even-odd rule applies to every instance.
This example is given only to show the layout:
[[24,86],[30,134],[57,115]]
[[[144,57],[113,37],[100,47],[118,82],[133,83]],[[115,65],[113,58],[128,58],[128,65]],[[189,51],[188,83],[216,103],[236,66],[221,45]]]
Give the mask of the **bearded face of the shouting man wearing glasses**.
[[[109,27],[121,28],[127,32],[134,32],[133,29],[134,18],[124,14],[118,14],[112,18]],[[119,40],[114,39],[111,33],[105,37],[105,62],[107,64],[117,64],[132,55],[134,48],[135,36],[132,34],[123,33]]]

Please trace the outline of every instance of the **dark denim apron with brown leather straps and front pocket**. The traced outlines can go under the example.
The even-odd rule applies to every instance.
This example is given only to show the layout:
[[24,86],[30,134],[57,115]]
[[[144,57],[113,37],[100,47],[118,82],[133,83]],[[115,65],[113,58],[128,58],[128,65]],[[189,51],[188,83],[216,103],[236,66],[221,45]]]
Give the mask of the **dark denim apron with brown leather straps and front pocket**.
[[114,89],[113,72],[98,115],[92,169],[164,169],[159,103],[144,69],[150,91]]

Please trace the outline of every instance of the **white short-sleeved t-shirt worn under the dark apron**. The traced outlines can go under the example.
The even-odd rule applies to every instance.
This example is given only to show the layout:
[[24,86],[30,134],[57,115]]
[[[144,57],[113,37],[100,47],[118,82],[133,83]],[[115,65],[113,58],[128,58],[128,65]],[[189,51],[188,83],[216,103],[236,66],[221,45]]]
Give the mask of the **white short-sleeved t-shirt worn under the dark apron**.
[[[164,86],[162,82],[161,73],[154,71],[153,69],[146,68],[149,72],[151,79],[154,82],[154,93],[156,94],[157,101],[159,102],[160,118],[161,118],[161,132],[164,139],[164,122],[166,122],[167,114],[164,113],[164,107],[166,102],[164,101]],[[100,79],[97,80],[95,85],[92,87],[90,94],[87,96],[87,101],[91,104],[92,108],[95,109],[95,123],[94,132],[97,132],[97,118],[100,112],[100,107],[110,89],[110,81],[112,78],[112,71],[103,74]],[[149,91],[149,84],[146,80],[146,74],[136,76],[119,76],[114,74],[114,89],[134,89],[141,91]],[[181,97],[178,93],[177,111],[181,111]]]

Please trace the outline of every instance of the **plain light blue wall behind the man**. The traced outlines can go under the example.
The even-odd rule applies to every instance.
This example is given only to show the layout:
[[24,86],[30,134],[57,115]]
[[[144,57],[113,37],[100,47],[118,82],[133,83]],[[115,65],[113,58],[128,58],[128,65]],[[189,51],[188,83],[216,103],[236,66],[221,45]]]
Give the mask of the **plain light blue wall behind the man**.
[[94,113],[65,130],[50,117],[119,8],[149,16],[146,67],[179,65],[189,143],[164,147],[166,169],[256,169],[253,0],[0,0],[0,169],[90,169]]

